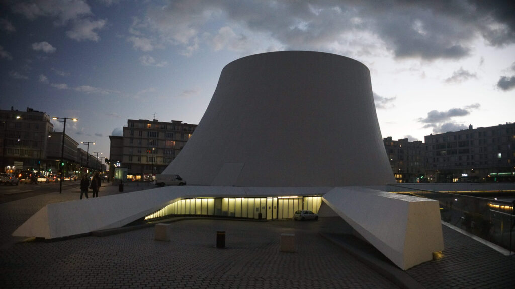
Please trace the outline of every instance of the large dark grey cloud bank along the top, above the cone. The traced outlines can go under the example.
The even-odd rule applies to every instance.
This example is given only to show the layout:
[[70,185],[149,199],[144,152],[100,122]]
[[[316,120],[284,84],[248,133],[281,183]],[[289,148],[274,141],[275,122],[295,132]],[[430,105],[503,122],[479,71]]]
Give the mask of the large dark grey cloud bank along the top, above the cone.
[[[198,49],[198,35],[210,29],[215,33],[227,30],[210,25],[213,15],[225,15],[239,27],[269,35],[284,49],[359,54],[380,47],[397,58],[434,60],[469,56],[478,37],[494,46],[515,42],[515,11],[509,1],[255,0],[238,5],[228,1],[204,4],[174,1],[151,9],[148,19],[152,22],[140,23],[140,27],[148,24],[159,32],[158,39],[182,44],[190,52]],[[234,43],[227,37],[234,37],[239,39],[235,49],[249,49],[253,40],[245,33],[226,33],[224,42],[209,43],[221,49],[224,43]],[[220,35],[212,39],[216,37]]]

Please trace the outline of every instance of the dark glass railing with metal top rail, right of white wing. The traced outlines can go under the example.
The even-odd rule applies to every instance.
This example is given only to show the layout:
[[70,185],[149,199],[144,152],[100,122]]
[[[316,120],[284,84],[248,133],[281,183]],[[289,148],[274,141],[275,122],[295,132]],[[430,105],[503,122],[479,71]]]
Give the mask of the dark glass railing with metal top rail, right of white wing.
[[497,198],[487,198],[412,188],[409,185],[387,185],[387,190],[436,200],[440,204],[442,221],[499,245],[510,253],[515,248],[515,200],[501,200],[502,192]]

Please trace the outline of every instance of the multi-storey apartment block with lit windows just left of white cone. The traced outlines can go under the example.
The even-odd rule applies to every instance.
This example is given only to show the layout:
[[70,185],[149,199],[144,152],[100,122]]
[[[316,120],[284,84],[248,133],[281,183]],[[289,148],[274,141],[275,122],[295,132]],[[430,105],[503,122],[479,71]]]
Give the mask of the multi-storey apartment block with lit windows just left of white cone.
[[177,156],[197,128],[182,121],[127,120],[123,137],[110,136],[110,162],[127,168],[132,180],[150,181]]

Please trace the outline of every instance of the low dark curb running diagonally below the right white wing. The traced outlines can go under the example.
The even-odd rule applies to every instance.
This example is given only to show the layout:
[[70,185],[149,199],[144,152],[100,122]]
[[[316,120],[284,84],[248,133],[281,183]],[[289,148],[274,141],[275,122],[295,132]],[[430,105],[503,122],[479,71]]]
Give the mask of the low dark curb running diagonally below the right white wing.
[[409,276],[406,272],[395,267],[394,265],[388,264],[382,260],[377,259],[376,257],[368,254],[367,252],[359,249],[357,246],[353,246],[350,243],[342,242],[341,240],[338,240],[337,238],[333,238],[328,233],[319,232],[319,234],[323,238],[327,239],[328,241],[331,241],[335,245],[344,249],[346,252],[348,252],[350,255],[352,255],[354,258],[356,258],[358,261],[364,263],[365,265],[370,267],[372,270],[374,270],[375,273],[388,279],[393,284],[395,284],[403,289],[425,289],[425,287],[422,286],[422,284],[417,282],[415,279],[413,279],[411,276]]

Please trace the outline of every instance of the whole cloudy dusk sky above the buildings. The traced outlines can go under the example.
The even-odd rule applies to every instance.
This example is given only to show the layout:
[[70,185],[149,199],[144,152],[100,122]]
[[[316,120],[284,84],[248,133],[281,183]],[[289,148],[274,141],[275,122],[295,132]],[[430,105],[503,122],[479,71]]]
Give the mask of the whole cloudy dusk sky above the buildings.
[[78,118],[66,133],[104,156],[127,119],[198,124],[227,63],[278,50],[367,65],[383,137],[423,141],[515,121],[512,1],[0,5],[0,108]]

